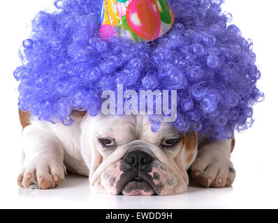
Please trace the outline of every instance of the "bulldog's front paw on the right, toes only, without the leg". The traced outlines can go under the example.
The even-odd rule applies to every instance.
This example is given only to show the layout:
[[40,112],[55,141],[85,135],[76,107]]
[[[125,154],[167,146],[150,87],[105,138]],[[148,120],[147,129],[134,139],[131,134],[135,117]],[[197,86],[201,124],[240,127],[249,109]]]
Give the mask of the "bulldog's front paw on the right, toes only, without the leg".
[[226,187],[235,180],[235,169],[230,160],[198,157],[191,166],[191,176],[203,187]]

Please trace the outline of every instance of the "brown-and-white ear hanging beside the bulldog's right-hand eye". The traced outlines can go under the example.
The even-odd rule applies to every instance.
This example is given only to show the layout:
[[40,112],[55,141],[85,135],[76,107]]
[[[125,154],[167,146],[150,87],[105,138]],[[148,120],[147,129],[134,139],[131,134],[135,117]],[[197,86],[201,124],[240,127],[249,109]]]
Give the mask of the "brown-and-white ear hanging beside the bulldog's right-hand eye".
[[190,131],[182,135],[182,148],[177,157],[175,157],[175,162],[182,171],[189,169],[196,159],[198,152],[197,147],[196,132]]

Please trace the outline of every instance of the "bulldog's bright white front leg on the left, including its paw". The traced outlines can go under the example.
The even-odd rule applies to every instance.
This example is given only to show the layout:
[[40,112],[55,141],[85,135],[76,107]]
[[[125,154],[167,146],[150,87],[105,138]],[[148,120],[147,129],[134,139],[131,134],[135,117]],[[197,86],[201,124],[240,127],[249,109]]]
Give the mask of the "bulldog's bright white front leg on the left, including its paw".
[[22,132],[24,162],[17,183],[31,189],[50,189],[60,185],[66,174],[64,148],[52,134],[28,125]]

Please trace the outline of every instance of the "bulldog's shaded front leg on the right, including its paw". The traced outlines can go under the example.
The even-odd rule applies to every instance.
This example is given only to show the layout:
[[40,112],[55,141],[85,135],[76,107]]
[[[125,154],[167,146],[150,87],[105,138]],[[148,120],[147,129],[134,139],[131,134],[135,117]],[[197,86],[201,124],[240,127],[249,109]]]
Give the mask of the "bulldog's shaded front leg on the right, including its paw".
[[191,166],[191,176],[203,187],[226,187],[235,180],[231,152],[235,139],[200,142],[198,156]]

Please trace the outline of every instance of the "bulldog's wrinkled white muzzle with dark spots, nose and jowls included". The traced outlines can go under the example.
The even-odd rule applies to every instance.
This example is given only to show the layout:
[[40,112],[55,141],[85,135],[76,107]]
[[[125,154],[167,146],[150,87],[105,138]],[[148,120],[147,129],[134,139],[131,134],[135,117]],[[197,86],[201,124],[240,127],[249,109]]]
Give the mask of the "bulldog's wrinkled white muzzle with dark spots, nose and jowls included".
[[[123,154],[122,157],[119,157]],[[118,148],[112,157],[119,159],[105,164],[94,174],[94,188],[106,194],[168,195],[186,190],[186,180],[175,170],[159,147],[146,141],[133,141]]]

